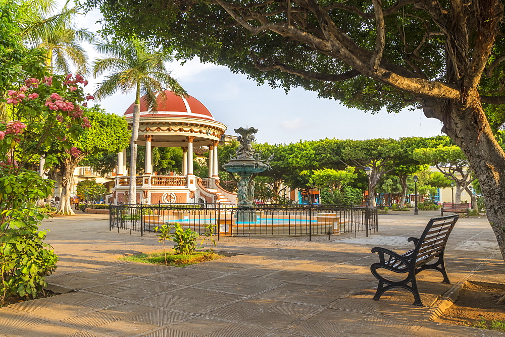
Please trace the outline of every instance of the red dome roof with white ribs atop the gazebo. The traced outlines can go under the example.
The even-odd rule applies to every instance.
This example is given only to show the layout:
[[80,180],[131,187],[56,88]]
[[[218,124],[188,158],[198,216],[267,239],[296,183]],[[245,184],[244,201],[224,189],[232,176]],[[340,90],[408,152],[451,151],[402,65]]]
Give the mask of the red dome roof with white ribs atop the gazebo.
[[[210,111],[196,98],[192,96],[182,98],[170,90],[165,90],[165,94],[167,97],[165,100],[162,95],[158,95],[158,113],[147,111],[144,96],[142,96],[140,98],[140,117],[185,117],[215,121]],[[126,110],[124,115],[126,118],[133,117],[133,105],[134,103]]]

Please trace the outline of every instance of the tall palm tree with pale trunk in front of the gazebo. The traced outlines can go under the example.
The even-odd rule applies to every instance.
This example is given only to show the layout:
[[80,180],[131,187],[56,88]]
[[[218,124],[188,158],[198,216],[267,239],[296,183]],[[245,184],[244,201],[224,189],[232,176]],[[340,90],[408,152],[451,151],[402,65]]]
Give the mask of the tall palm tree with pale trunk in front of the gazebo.
[[[157,96],[162,94],[164,99],[166,88],[173,90],[176,95],[187,96],[182,86],[170,76],[165,62],[171,62],[172,57],[163,50],[149,49],[142,40],[131,39],[124,41],[109,41],[96,45],[96,50],[106,54],[107,58],[93,62],[93,76],[110,72],[103,82],[100,82],[95,92],[97,99],[113,95],[118,89],[123,94],[135,90],[135,104],[133,105],[133,126],[130,142],[130,200],[135,202],[137,174],[137,140],[138,125],[140,123],[140,97],[148,109],[156,113],[158,108]],[[166,98],[166,97],[165,97]]]

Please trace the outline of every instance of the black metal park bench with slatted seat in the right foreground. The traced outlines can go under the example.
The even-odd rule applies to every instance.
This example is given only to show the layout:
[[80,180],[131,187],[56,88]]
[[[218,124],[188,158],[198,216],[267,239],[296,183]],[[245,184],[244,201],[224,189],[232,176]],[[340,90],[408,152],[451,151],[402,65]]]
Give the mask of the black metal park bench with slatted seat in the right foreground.
[[[417,289],[416,274],[426,269],[440,271],[443,276],[442,283],[450,284],[445,271],[444,250],[450,232],[459,217],[458,214],[453,214],[430,219],[420,238],[411,237],[407,240],[413,241],[415,247],[404,254],[400,255],[381,247],[373,248],[372,253],[379,253],[379,262],[370,266],[372,274],[379,280],[379,286],[373,299],[379,300],[384,292],[392,288],[403,288],[414,295],[413,305],[423,306]],[[434,259],[436,262],[428,264]],[[399,274],[406,273],[407,276],[399,281],[390,280],[379,274],[377,269],[380,268]]]

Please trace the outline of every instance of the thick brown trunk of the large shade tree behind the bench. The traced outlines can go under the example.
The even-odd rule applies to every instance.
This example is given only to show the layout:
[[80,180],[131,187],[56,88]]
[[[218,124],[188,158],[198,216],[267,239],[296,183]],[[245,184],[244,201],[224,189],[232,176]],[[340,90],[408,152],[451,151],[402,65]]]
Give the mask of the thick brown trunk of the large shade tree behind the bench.
[[[494,137],[476,90],[450,101],[443,131],[467,156],[486,198],[487,218],[505,259],[505,153]],[[458,195],[457,195],[458,196]]]

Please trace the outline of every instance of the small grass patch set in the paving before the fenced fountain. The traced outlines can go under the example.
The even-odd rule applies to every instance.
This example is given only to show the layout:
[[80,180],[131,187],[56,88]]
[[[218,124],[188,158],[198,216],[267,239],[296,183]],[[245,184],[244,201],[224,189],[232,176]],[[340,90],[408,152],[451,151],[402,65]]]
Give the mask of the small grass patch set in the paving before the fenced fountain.
[[[193,254],[173,254],[167,252],[167,264],[173,267],[185,267],[190,264],[200,262],[212,261],[223,258],[226,256],[219,255],[211,252],[195,252]],[[161,253],[151,254],[135,254],[130,256],[120,257],[120,260],[127,260],[132,262],[152,263],[165,265],[165,255]]]

